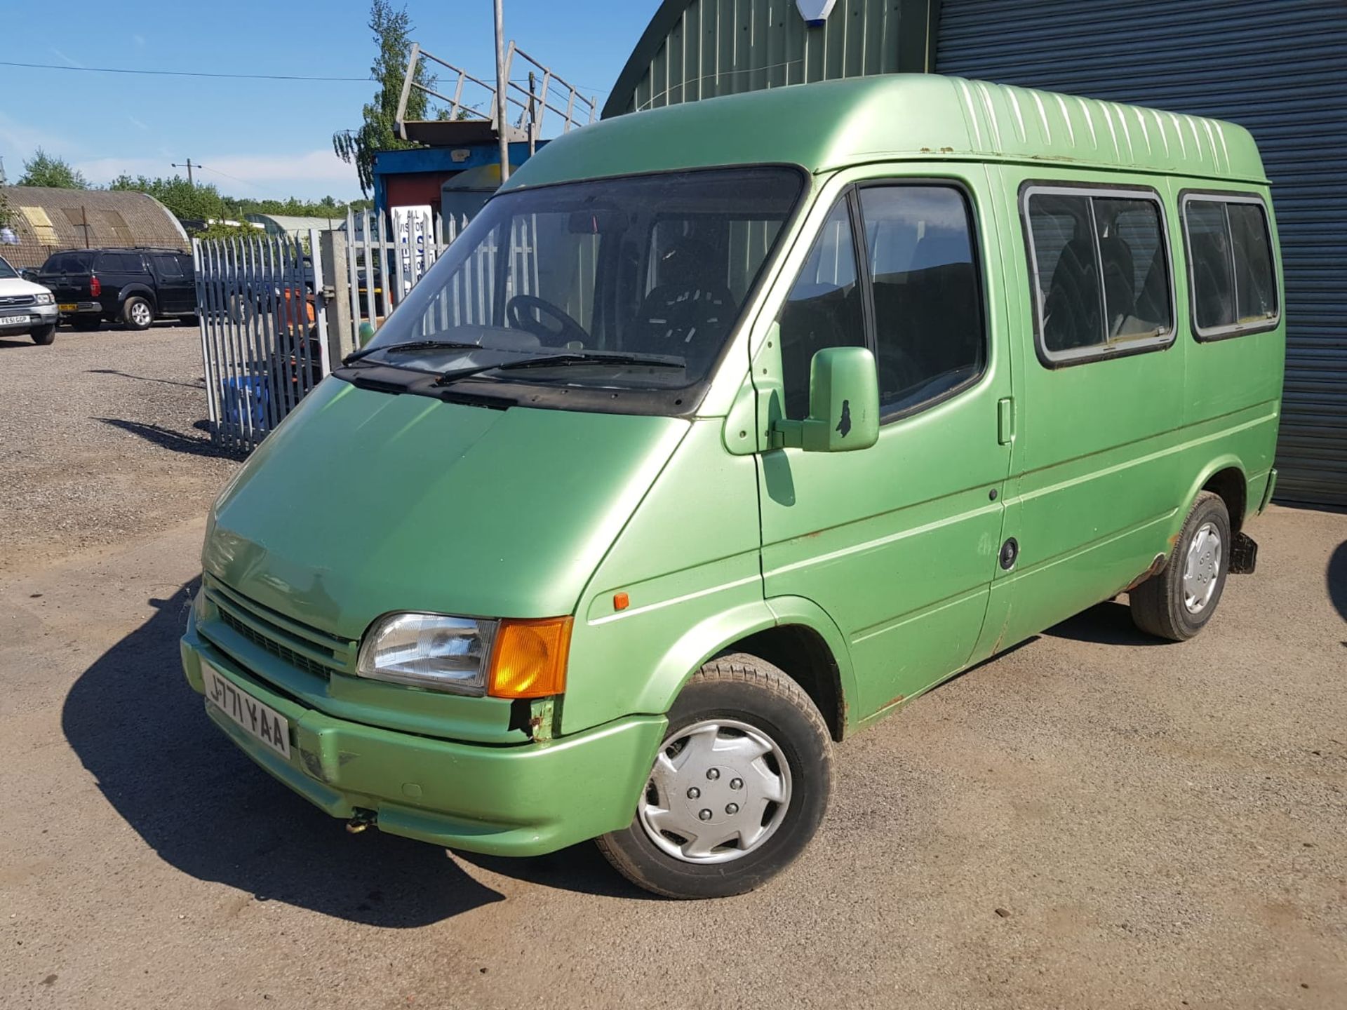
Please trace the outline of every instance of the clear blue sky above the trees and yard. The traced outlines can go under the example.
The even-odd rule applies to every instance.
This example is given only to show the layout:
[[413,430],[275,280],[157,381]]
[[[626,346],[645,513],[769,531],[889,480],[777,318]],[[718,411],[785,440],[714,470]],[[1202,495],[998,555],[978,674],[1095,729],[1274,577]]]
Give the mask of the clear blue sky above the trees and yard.
[[[395,0],[395,7],[397,5]],[[490,79],[492,0],[407,0],[414,38]],[[505,0],[505,36],[583,92],[607,97],[657,0]],[[0,59],[86,67],[365,77],[368,0],[0,0]],[[23,44],[12,44],[22,40]],[[9,182],[36,147],[90,180],[172,175],[172,162],[238,197],[360,195],[331,152],[360,125],[364,82],[143,77],[0,66],[0,156]]]

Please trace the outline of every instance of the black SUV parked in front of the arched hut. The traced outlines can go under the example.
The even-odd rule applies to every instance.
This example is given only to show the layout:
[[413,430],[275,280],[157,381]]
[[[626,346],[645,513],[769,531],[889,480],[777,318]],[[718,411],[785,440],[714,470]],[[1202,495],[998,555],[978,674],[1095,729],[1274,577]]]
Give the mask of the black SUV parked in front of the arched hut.
[[144,330],[197,312],[197,272],[178,249],[69,249],[47,257],[38,283],[57,296],[61,322],[77,330],[104,321]]

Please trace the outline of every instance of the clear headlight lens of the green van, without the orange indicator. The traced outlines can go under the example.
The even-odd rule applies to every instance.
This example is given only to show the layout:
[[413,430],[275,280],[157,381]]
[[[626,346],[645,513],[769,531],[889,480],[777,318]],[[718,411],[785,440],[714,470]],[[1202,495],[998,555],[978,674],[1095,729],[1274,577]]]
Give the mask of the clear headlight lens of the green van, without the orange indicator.
[[486,694],[496,621],[443,614],[388,614],[365,633],[356,672],[458,695]]

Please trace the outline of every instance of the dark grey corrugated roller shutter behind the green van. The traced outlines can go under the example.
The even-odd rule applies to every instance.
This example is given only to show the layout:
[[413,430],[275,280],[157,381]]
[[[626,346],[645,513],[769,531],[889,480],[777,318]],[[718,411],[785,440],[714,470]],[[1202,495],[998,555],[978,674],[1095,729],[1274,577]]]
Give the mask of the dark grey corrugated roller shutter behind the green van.
[[1253,132],[1286,272],[1278,497],[1347,504],[1347,3],[943,0],[936,71]]

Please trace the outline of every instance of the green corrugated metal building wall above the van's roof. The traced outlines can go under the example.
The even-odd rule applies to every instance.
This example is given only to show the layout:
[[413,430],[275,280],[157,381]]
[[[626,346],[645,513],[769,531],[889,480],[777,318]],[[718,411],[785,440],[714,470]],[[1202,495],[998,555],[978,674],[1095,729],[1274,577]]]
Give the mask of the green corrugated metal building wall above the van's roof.
[[894,73],[898,7],[897,0],[838,0],[827,23],[810,28],[795,0],[692,0],[622,110]]

